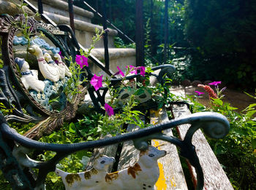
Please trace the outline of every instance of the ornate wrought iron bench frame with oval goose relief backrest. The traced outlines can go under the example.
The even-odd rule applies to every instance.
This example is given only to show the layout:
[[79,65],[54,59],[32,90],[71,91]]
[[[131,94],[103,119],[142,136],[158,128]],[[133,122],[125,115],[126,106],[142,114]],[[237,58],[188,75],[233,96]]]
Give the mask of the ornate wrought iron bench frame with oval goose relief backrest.
[[[94,109],[101,112],[101,106],[105,103],[105,94],[108,92],[108,89],[102,88],[103,93],[101,95],[100,93],[95,92],[94,88],[91,87],[89,83],[85,82],[80,87],[81,93],[74,95],[70,101],[67,101],[67,97],[62,93],[65,85],[65,82],[63,81],[55,81],[54,79],[44,76],[46,80],[44,82],[45,87],[43,90],[39,90],[37,88],[39,86],[26,86],[26,82],[23,81],[24,79],[22,76],[29,74],[37,76],[37,71],[31,71],[29,69],[29,65],[26,64],[26,61],[29,61],[31,68],[38,70],[40,66],[37,66],[37,64],[34,65],[33,63],[40,64],[39,62],[43,62],[45,60],[41,58],[37,58],[36,60],[35,57],[29,55],[26,51],[24,52],[23,45],[30,42],[26,41],[26,38],[20,38],[20,36],[24,34],[21,33],[19,29],[20,25],[28,27],[27,29],[29,30],[29,33],[32,34],[32,37],[36,35],[43,36],[39,33],[41,31],[45,37],[40,37],[40,39],[42,38],[45,40],[37,41],[38,38],[34,38],[31,39],[31,41],[33,44],[37,44],[37,47],[40,46],[43,49],[48,50],[48,53],[58,53],[60,50],[62,55],[66,57],[71,55],[72,59],[75,60],[75,55],[79,54],[80,49],[72,30],[66,25],[60,25],[59,27],[47,25],[42,22],[37,22],[37,20],[34,20],[33,18],[26,20],[23,15],[18,15],[16,17],[1,15],[0,17],[0,34],[2,41],[1,53],[2,59],[4,60],[4,67],[0,70],[0,103],[1,107],[3,107],[0,112],[0,169],[7,181],[10,181],[12,189],[44,189],[46,175],[49,172],[56,170],[56,164],[61,159],[75,151],[111,146],[116,143],[132,140],[135,148],[140,151],[140,156],[144,157],[144,154],[148,152],[148,149],[153,149],[151,146],[148,146],[148,141],[154,139],[164,140],[167,141],[167,143],[173,143],[178,146],[181,150],[181,156],[188,159],[189,163],[195,167],[195,171],[197,173],[197,189],[203,189],[203,170],[200,166],[195,146],[192,145],[192,137],[199,128],[212,138],[222,138],[227,135],[229,123],[225,116],[222,116],[221,114],[210,112],[191,114],[181,118],[172,119],[170,121],[165,121],[152,127],[127,132],[123,135],[116,135],[115,137],[84,143],[50,144],[37,141],[37,139],[42,137],[42,135],[49,135],[53,130],[60,128],[64,122],[69,122],[71,119],[75,118],[78,106],[84,99],[86,92],[89,92],[91,95],[91,100],[94,103]],[[35,51],[30,48],[28,50],[31,52]],[[22,58],[25,58],[25,60]],[[66,64],[69,65],[69,62],[66,61]],[[23,66],[26,66],[26,68],[23,68]],[[108,69],[105,69],[104,67],[102,67],[102,69],[107,74],[112,74]],[[164,83],[162,76],[170,70],[173,71],[173,67],[159,66],[153,68],[153,70],[159,69],[161,69],[159,74],[154,76],[160,83]],[[41,71],[41,73],[43,72]],[[81,77],[91,79],[92,76],[93,74],[90,69],[86,68],[86,74]],[[137,76],[138,75],[129,76],[127,79],[132,79]],[[42,81],[42,78],[43,77],[39,74],[39,77],[35,77],[35,80],[39,82]],[[121,79],[112,79],[111,82],[114,85],[118,84],[120,80]],[[56,95],[56,93],[58,95]],[[57,103],[54,100],[56,97],[59,97]],[[156,107],[156,105],[143,107],[143,109],[154,107]],[[24,135],[20,135],[12,129],[13,125],[20,123],[35,123],[35,125]],[[170,133],[165,134],[165,132],[163,132],[181,124],[191,124],[186,135],[184,135],[183,140],[170,135]],[[20,148],[17,148],[17,145],[20,146]],[[26,156],[27,149],[36,149],[37,151],[55,151],[56,156],[45,162],[36,162]],[[155,149],[153,150],[156,151]],[[161,154],[161,157],[163,157],[164,151],[161,151]],[[146,155],[148,157],[154,157],[154,154]],[[130,173],[128,176],[132,176],[132,178],[135,178],[137,173],[140,173],[140,169],[135,166],[128,168],[128,173]],[[31,175],[29,172],[32,168],[38,169],[36,177]],[[78,177],[78,175],[74,176]],[[101,186],[108,185],[113,188],[115,184],[113,179],[116,179],[116,176],[117,173],[107,173],[102,181],[95,181],[95,183],[100,182]],[[152,188],[153,185],[148,185],[148,188]],[[141,183],[139,186],[135,186],[135,188],[140,189],[141,187],[144,189],[143,186],[144,183]],[[94,189],[97,188],[94,187]]]

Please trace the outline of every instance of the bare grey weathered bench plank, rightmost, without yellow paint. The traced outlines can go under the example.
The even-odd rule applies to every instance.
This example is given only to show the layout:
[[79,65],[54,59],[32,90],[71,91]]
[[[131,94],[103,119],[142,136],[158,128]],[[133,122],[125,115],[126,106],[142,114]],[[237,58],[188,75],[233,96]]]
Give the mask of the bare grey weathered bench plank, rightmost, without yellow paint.
[[[177,93],[177,92],[176,92]],[[178,94],[184,95],[184,90],[179,90]],[[173,106],[174,117],[185,116],[191,114],[186,105],[182,106]],[[178,126],[178,131],[181,135],[181,139],[184,139],[184,136],[189,128],[189,124],[183,124]],[[205,186],[204,189],[212,190],[229,190],[233,189],[225,171],[222,169],[221,165],[214,152],[209,146],[203,132],[197,130],[195,135],[192,138],[192,144],[195,145],[197,156],[200,160],[200,165],[203,168]],[[192,167],[192,166],[191,166]],[[192,167],[192,173],[194,178],[196,178],[195,168]]]

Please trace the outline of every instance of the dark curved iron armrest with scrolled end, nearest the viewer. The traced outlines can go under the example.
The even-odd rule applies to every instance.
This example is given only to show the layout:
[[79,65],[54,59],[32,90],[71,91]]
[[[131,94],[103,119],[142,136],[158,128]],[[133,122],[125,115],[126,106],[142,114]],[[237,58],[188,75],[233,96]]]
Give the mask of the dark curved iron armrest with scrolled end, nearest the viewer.
[[[205,132],[205,134],[211,138],[223,138],[225,135],[227,135],[230,129],[229,122],[222,114],[217,114],[213,112],[202,112],[191,114],[189,116],[184,116],[178,119],[173,119],[169,122],[157,124],[152,127],[147,127],[135,132],[128,132],[124,135],[117,135],[116,137],[112,138],[94,140],[85,143],[53,144],[41,143],[18,134],[18,132],[9,127],[1,114],[0,120],[0,140],[1,138],[4,138],[5,142],[12,140],[20,143],[21,146],[25,146],[30,149],[56,151],[56,156],[52,159],[48,160],[47,162],[39,162],[34,165],[34,168],[39,169],[39,176],[35,181],[36,186],[40,186],[42,185],[42,183],[44,183],[46,175],[50,171],[55,170],[56,164],[61,159],[67,157],[67,155],[72,154],[75,151],[108,146],[127,140],[133,140],[135,148],[143,151],[148,148],[148,140],[159,139],[173,143],[181,149],[181,156],[187,158],[190,164],[195,167],[197,173],[196,189],[203,189],[203,170],[200,166],[200,162],[195,151],[195,146],[192,145],[192,136],[198,129],[201,128],[203,132]],[[180,124],[191,124],[191,127],[189,127],[189,130],[187,131],[184,140],[180,140],[176,137],[168,136],[162,133],[162,130],[167,130]],[[5,146],[7,146],[7,144]],[[13,157],[8,159],[13,159]]]

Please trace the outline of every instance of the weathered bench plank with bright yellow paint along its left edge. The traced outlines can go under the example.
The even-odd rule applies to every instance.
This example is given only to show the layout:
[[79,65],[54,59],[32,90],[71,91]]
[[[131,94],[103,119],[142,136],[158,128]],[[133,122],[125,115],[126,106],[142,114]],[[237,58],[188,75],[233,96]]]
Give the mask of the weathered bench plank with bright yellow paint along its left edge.
[[[167,122],[168,116],[165,109],[158,111],[151,110],[151,124],[159,124]],[[172,130],[165,130],[166,135],[173,135]],[[155,185],[155,189],[187,189],[187,183],[181,167],[181,162],[178,157],[176,146],[162,140],[151,140],[152,146],[158,146],[158,149],[167,151],[167,155],[158,160],[159,165],[159,179]]]

